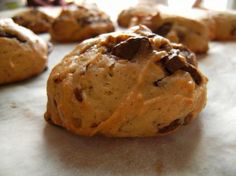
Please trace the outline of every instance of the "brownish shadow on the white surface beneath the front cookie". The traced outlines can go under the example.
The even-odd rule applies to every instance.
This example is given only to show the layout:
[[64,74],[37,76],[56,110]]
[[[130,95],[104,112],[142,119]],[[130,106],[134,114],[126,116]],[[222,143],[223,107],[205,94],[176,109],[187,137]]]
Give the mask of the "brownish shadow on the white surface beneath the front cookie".
[[46,125],[44,150],[48,162],[71,174],[178,173],[186,170],[196,157],[201,129],[201,119],[197,118],[165,137],[87,138]]

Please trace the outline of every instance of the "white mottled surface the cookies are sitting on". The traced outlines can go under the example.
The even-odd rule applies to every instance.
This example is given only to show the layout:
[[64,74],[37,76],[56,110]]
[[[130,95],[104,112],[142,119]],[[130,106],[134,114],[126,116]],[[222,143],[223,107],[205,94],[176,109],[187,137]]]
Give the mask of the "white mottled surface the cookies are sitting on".
[[76,136],[44,121],[48,75],[74,46],[56,44],[47,71],[0,86],[1,176],[236,175],[236,42],[211,42],[199,57],[208,103],[195,121],[169,136],[124,139]]

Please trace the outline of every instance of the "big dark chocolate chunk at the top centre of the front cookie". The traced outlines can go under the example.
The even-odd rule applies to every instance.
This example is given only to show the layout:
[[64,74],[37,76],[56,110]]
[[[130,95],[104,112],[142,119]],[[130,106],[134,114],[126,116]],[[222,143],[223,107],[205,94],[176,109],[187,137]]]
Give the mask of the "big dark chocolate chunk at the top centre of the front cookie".
[[138,52],[148,51],[151,49],[151,44],[146,37],[132,37],[112,48],[112,54],[131,60]]

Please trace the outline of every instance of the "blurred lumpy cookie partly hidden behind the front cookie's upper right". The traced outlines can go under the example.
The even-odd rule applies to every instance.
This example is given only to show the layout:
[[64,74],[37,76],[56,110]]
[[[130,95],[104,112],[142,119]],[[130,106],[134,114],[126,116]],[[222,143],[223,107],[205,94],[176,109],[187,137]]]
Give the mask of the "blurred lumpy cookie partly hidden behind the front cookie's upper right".
[[154,33],[182,43],[196,53],[208,50],[207,27],[194,19],[170,13],[162,6],[137,6],[123,10],[118,17],[122,27],[143,24]]

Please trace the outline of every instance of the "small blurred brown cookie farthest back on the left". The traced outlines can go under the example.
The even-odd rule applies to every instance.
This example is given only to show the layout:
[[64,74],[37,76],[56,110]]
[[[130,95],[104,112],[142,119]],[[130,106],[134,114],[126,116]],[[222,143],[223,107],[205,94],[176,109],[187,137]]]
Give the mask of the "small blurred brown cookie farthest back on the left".
[[28,9],[12,17],[15,23],[32,30],[36,34],[48,32],[53,17],[36,9]]

